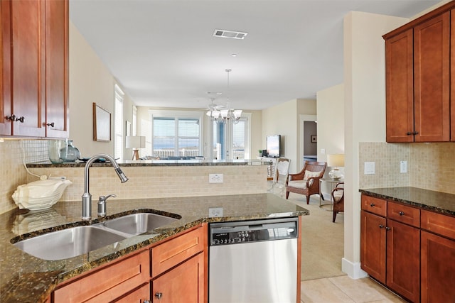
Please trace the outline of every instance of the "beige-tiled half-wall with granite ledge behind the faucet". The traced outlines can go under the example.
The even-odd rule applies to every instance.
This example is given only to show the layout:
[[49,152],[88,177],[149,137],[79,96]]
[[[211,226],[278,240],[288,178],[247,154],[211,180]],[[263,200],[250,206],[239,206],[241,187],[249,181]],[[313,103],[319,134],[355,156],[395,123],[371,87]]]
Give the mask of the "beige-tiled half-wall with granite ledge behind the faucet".
[[[268,161],[261,160],[139,160],[117,161],[129,178],[119,183],[109,163],[90,167],[93,197],[116,194],[117,199],[260,194],[267,192]],[[35,175],[66,177],[73,182],[60,201],[80,201],[84,191],[85,163],[28,164]],[[210,183],[209,175],[223,175],[223,182]],[[36,181],[33,175],[27,182]]]

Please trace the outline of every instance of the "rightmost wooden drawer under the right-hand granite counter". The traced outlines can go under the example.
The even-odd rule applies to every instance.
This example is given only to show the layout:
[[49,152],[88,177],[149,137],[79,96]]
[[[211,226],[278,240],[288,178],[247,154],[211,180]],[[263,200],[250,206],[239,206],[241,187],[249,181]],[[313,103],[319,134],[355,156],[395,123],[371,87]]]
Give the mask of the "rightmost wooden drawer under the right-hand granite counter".
[[420,226],[422,229],[426,229],[432,233],[439,233],[441,236],[455,239],[455,217],[453,216],[437,214],[422,209]]

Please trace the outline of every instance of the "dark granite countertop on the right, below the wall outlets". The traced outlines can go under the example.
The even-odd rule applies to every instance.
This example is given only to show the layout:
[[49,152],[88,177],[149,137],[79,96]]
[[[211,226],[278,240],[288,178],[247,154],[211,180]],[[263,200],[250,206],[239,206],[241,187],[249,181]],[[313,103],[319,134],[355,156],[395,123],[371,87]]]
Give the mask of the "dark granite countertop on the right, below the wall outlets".
[[455,216],[455,194],[434,192],[417,187],[359,189],[372,197],[417,206],[440,214]]

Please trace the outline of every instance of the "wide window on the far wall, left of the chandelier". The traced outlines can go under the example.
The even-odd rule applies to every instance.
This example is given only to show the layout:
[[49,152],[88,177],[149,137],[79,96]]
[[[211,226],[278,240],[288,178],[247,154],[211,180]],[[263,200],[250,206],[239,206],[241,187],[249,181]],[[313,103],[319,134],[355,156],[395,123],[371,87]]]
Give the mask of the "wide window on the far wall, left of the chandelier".
[[203,155],[200,112],[152,111],[151,116],[151,146],[154,157]]

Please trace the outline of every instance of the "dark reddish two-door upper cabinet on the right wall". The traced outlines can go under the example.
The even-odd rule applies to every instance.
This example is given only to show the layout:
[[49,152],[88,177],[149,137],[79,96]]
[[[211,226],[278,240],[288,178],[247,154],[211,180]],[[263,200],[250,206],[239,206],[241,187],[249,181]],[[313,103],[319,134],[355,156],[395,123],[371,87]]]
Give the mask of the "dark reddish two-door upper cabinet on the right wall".
[[451,140],[451,6],[383,36],[387,142]]

